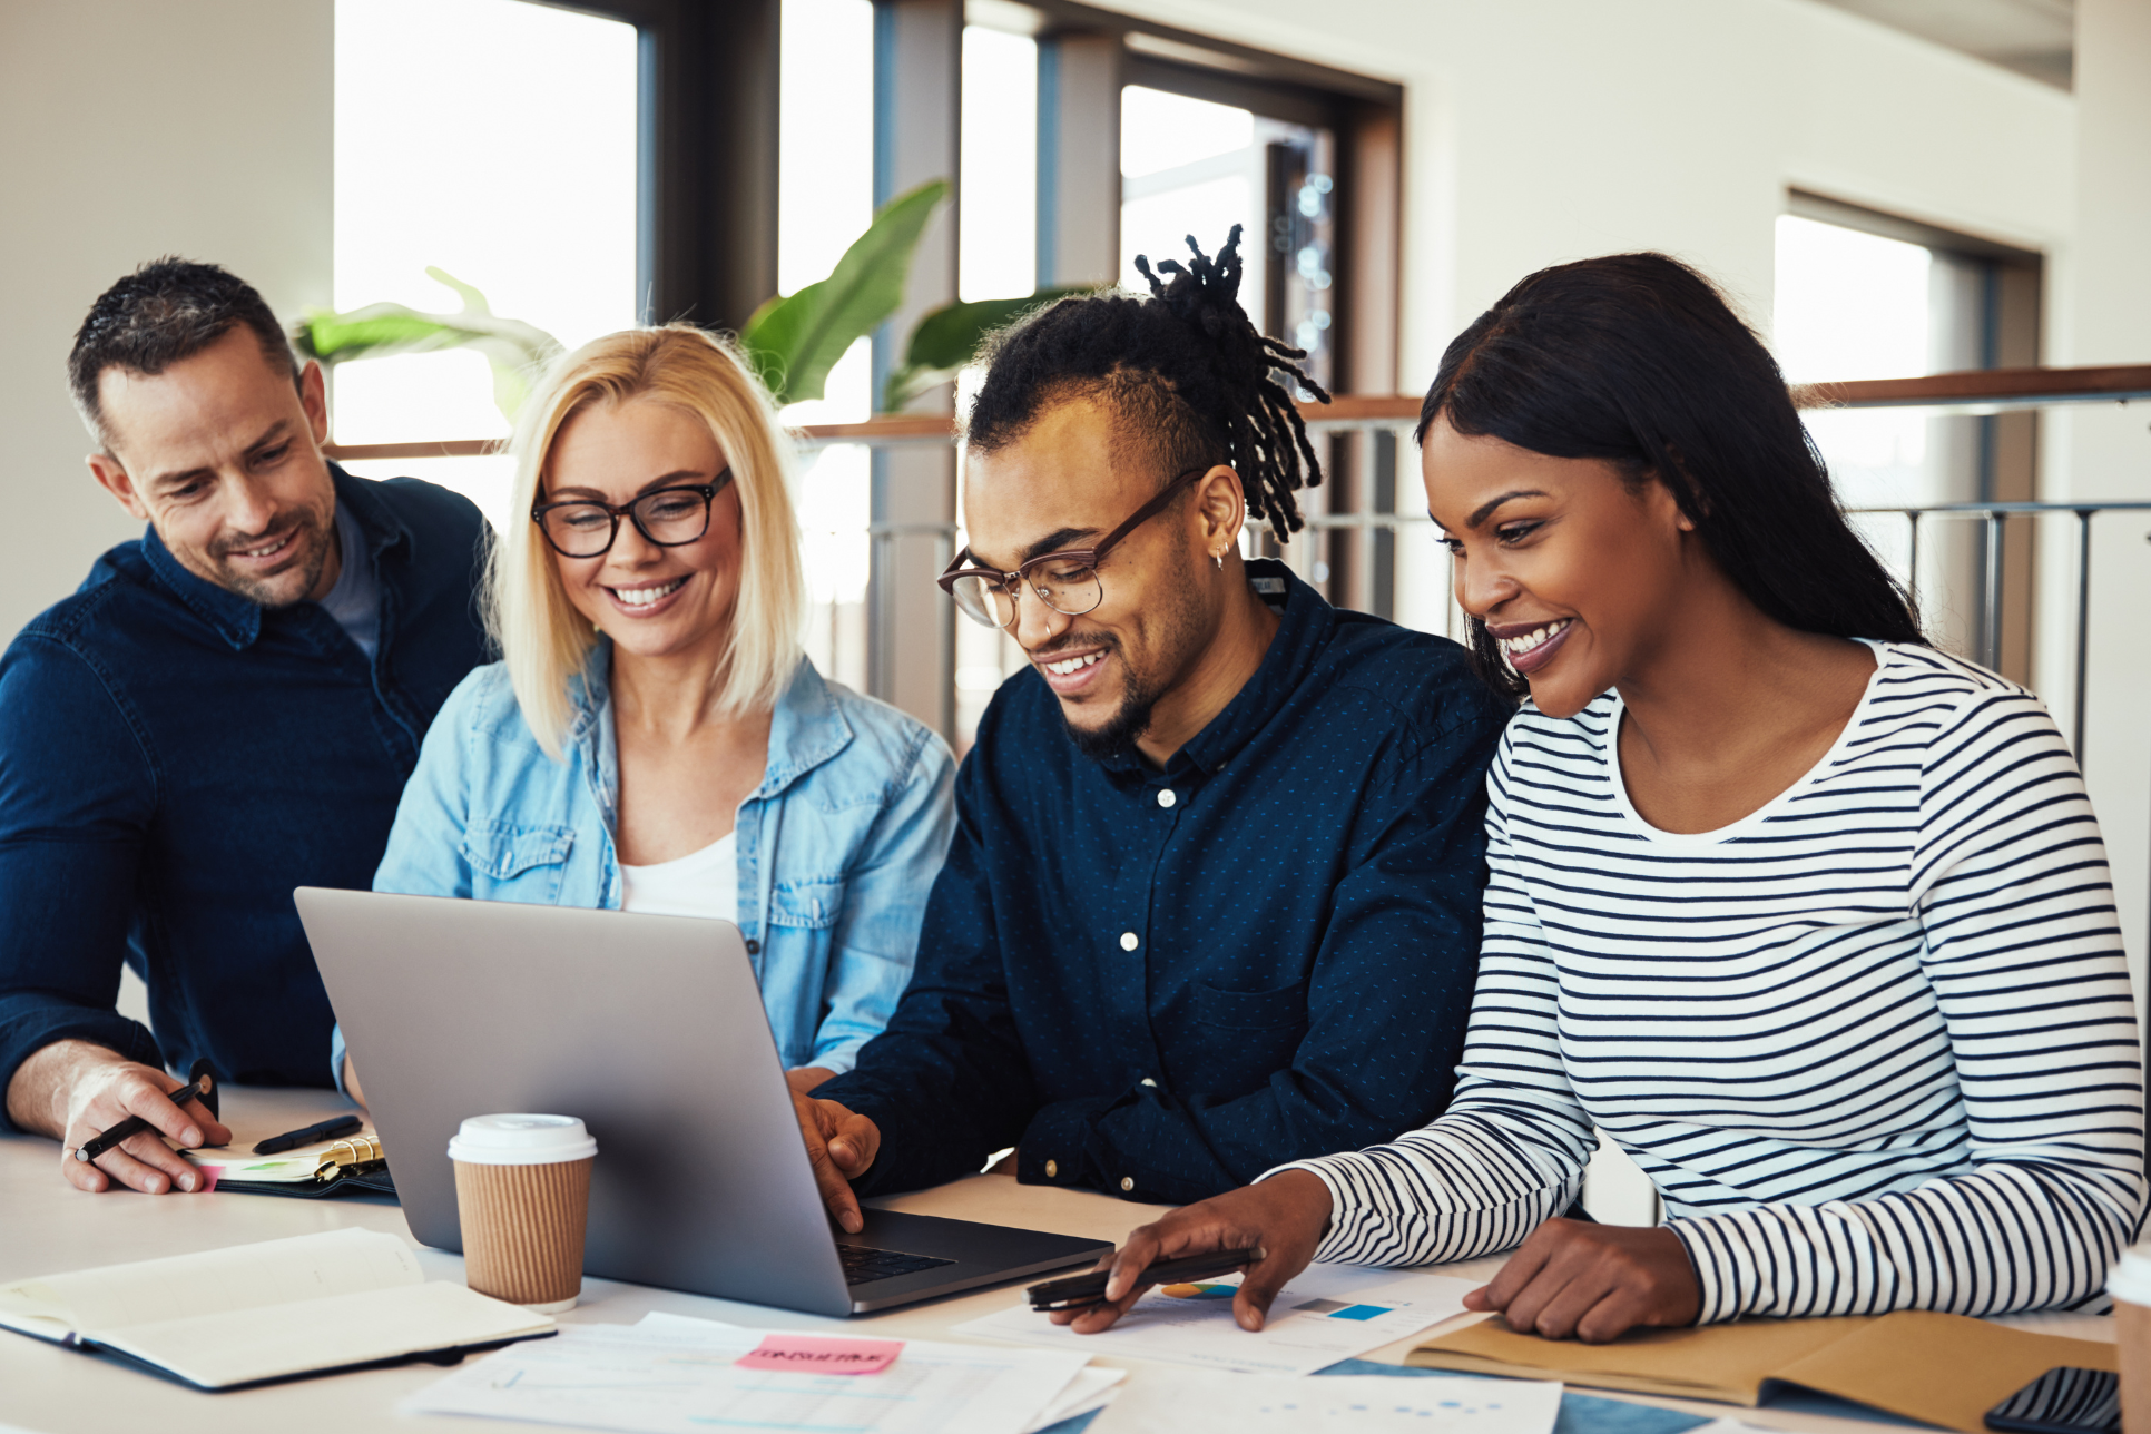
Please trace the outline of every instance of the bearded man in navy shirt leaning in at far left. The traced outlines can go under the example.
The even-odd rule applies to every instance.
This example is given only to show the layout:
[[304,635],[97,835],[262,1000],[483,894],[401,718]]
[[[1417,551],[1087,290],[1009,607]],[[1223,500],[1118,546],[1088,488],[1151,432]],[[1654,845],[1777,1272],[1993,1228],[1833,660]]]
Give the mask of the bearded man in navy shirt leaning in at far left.
[[[329,1086],[329,998],[295,886],[366,888],[419,740],[482,658],[484,520],[320,454],[320,370],[262,297],[157,260],[67,361],[90,473],[148,531],[0,656],[0,1129],[62,1142],[86,1191],[196,1172],[213,1081]],[[151,1030],[118,1015],[120,965]],[[127,1116],[155,1129],[95,1163]]]

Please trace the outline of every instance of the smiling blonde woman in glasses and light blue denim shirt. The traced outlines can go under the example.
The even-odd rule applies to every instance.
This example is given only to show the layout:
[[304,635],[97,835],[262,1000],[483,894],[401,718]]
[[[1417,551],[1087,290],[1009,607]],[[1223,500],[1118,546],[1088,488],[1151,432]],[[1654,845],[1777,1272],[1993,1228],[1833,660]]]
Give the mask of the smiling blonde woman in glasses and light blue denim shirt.
[[800,651],[768,396],[699,329],[613,333],[514,454],[503,660],[426,733],[374,890],[733,920],[792,1084],[850,1071],[910,980],[955,763]]

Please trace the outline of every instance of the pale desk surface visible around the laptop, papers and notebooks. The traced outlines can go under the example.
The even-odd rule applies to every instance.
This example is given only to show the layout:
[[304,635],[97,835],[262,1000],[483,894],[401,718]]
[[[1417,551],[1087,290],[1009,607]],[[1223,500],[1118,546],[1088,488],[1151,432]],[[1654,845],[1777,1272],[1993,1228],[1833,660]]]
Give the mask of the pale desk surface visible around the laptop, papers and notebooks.
[[[342,1107],[333,1094],[318,1090],[232,1090],[226,1120],[234,1146],[247,1146],[265,1135],[288,1131]],[[125,1264],[198,1249],[273,1241],[295,1234],[316,1234],[357,1225],[385,1230],[404,1241],[411,1232],[402,1210],[391,1204],[355,1200],[273,1200],[260,1195],[82,1195],[65,1185],[58,1172],[58,1146],[49,1139],[0,1137],[0,1279],[26,1275],[58,1275],[99,1264]],[[1134,1225],[1153,1219],[1164,1206],[1140,1206],[1084,1191],[1017,1185],[1007,1176],[972,1176],[934,1191],[895,1195],[873,1204],[921,1215],[949,1215],[1030,1230],[1054,1230],[1119,1243]],[[413,1241],[415,1245],[415,1241]],[[419,1247],[419,1264],[428,1279],[462,1279],[462,1258]],[[1471,1260],[1448,1273],[1484,1279],[1499,1260]],[[673,1290],[654,1290],[611,1279],[583,1281],[583,1303],[561,1316],[568,1324],[632,1324],[652,1309],[686,1314],[706,1320],[774,1329],[852,1329],[856,1333],[906,1339],[953,1339],[951,1329],[983,1314],[1017,1303],[1020,1284],[992,1286],[925,1305],[891,1309],[854,1320],[830,1320],[792,1309],[768,1309],[733,1301],[703,1299]],[[1473,1316],[1463,1316],[1473,1318]],[[2080,1339],[2112,1339],[2112,1320],[2084,1316],[2022,1316],[2011,1324],[2076,1335]],[[1258,1335],[1250,1335],[1256,1339]],[[1400,1363],[1415,1339],[1385,1346],[1368,1359]],[[1131,1370],[1131,1378],[1172,1378],[1172,1365],[1099,1357],[1101,1365]],[[407,1393],[441,1378],[432,1365],[370,1370],[327,1380],[297,1380],[237,1393],[200,1393],[181,1385],[146,1378],[112,1361],[86,1359],[39,1339],[0,1331],[0,1423],[22,1425],[39,1434],[136,1434],[142,1428],[159,1434],[262,1434],[305,1430],[308,1434],[342,1434],[394,1423],[398,1430],[441,1430],[482,1434],[484,1430],[553,1430],[555,1425],[523,1425],[447,1417],[398,1419],[391,1406]],[[1609,1395],[1618,1397],[1618,1395]],[[1766,1428],[1835,1434],[1878,1425],[1794,1410],[1736,1410],[1723,1404],[1682,1400],[1648,1400],[1686,1408],[1699,1415],[1738,1415]]]

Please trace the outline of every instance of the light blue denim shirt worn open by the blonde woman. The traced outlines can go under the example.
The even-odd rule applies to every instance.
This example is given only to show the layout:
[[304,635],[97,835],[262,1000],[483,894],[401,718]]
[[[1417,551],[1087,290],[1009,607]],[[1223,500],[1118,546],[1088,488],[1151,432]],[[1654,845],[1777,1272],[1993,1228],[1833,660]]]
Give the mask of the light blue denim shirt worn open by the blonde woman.
[[[619,909],[611,643],[572,684],[564,761],[538,748],[508,669],[441,707],[374,890]],[[800,658],[740,802],[740,933],[785,1066],[850,1071],[912,976],[955,821],[955,759],[895,707]]]

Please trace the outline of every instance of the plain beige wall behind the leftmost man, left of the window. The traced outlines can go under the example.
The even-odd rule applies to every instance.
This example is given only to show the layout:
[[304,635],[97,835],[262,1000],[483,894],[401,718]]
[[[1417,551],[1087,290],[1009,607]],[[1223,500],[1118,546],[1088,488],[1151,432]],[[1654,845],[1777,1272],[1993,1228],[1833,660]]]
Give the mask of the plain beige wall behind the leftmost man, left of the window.
[[92,482],[67,348],[161,254],[329,301],[331,0],[0,4],[0,641],[140,527]]

